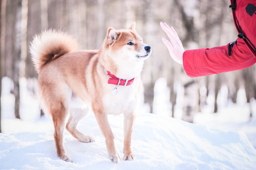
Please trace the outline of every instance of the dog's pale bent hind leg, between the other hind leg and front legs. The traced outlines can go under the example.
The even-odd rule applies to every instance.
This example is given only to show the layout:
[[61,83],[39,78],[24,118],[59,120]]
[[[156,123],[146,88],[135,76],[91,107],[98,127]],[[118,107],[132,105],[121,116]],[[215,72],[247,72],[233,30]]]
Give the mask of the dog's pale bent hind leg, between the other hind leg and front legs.
[[94,138],[89,135],[85,135],[81,133],[81,131],[77,129],[77,125],[79,121],[81,121],[82,118],[84,118],[89,111],[90,111],[90,108],[88,107],[70,108],[70,117],[69,117],[68,123],[66,124],[66,129],[73,135],[73,137],[78,139],[78,141],[85,142],[85,143],[95,142]]

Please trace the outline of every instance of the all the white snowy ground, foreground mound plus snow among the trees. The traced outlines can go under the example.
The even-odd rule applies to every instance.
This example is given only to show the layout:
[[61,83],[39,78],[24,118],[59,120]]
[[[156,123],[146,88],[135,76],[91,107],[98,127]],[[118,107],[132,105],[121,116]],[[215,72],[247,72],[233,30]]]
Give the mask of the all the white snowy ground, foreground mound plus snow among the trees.
[[[74,162],[66,163],[57,157],[51,118],[39,118],[35,97],[26,88],[23,92],[23,121],[14,119],[13,96],[3,92],[1,98],[0,169],[256,169],[256,120],[249,121],[246,105],[229,105],[217,114],[205,108],[195,115],[196,124],[140,113],[132,138],[137,159],[119,164],[108,159],[104,137],[90,113],[79,129],[93,135],[96,142],[78,142],[65,131],[64,145]],[[123,116],[108,118],[122,156]]]

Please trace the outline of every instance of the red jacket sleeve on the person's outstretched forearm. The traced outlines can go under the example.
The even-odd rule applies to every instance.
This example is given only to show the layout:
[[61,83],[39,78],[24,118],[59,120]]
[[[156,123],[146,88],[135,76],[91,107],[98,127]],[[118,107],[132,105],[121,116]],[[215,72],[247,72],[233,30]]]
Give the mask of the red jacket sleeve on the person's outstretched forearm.
[[256,57],[244,40],[237,39],[237,43],[231,47],[231,56],[228,56],[228,46],[186,50],[183,54],[183,67],[187,75],[197,77],[241,70],[256,62]]

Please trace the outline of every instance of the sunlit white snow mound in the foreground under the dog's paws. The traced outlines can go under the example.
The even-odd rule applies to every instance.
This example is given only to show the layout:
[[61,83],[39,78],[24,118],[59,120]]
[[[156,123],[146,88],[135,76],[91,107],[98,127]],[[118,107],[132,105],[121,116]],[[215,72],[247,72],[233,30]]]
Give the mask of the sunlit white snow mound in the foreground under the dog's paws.
[[[123,153],[123,116],[108,116]],[[174,118],[138,114],[132,137],[134,162],[108,159],[104,137],[93,114],[79,129],[95,137],[81,143],[65,131],[64,145],[74,163],[58,159],[53,129],[0,134],[0,169],[256,169],[256,150],[244,133],[209,129]]]

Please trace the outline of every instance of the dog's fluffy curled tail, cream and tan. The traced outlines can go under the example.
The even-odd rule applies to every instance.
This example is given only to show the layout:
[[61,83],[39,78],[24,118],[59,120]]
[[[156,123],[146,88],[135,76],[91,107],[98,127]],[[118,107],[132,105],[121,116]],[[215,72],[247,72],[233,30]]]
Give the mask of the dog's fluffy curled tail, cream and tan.
[[77,50],[77,41],[67,33],[54,29],[36,35],[30,45],[30,53],[37,73],[48,62],[75,50]]

